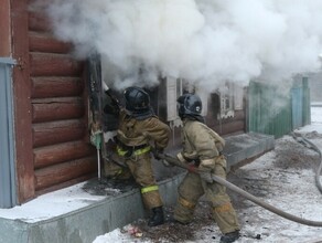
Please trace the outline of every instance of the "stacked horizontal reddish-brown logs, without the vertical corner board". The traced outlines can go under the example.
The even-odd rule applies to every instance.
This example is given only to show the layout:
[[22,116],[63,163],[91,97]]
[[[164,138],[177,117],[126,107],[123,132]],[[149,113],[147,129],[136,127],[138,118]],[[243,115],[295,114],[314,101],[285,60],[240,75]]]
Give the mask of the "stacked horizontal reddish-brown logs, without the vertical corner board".
[[35,191],[88,179],[96,152],[88,144],[84,63],[53,38],[45,17],[29,13]]

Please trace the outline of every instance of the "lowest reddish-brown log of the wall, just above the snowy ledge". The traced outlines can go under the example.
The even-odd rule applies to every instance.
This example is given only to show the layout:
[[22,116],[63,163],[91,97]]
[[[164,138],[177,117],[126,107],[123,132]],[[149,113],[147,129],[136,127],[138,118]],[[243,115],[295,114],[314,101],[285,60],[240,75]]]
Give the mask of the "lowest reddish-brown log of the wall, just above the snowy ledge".
[[35,189],[43,190],[96,170],[95,156],[39,169],[35,171]]

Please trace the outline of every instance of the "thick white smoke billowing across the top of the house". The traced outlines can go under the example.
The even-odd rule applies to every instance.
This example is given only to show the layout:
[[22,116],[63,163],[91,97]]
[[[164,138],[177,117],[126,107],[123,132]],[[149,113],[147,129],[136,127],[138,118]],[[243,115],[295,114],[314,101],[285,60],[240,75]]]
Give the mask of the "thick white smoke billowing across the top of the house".
[[119,87],[161,75],[214,91],[321,65],[320,0],[54,0],[46,11],[55,35],[79,57],[100,53]]

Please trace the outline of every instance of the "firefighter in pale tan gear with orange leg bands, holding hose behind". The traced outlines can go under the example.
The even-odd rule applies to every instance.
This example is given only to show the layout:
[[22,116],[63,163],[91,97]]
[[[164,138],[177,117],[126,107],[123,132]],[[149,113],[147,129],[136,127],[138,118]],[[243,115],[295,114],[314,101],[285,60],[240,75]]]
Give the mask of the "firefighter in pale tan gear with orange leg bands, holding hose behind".
[[179,186],[174,220],[187,224],[193,219],[198,199],[205,194],[212,205],[212,216],[223,235],[221,243],[234,242],[239,237],[236,212],[226,188],[212,180],[211,175],[226,178],[226,159],[222,155],[225,140],[204,124],[201,116],[202,102],[195,94],[178,98],[179,116],[183,123],[183,150],[178,154],[181,162],[193,162],[203,172],[187,172]]

